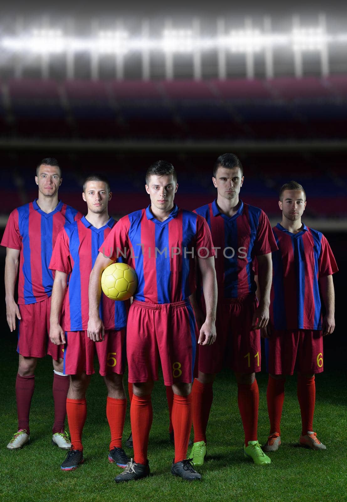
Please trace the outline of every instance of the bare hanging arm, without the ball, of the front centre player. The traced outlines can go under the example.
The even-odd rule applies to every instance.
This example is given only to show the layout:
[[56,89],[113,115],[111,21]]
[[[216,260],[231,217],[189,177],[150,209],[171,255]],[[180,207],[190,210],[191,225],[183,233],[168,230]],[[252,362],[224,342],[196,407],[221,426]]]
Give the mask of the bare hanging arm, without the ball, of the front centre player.
[[198,343],[200,345],[212,345],[216,340],[217,279],[215,258],[198,258],[198,265],[206,304],[206,319],[200,329]]

